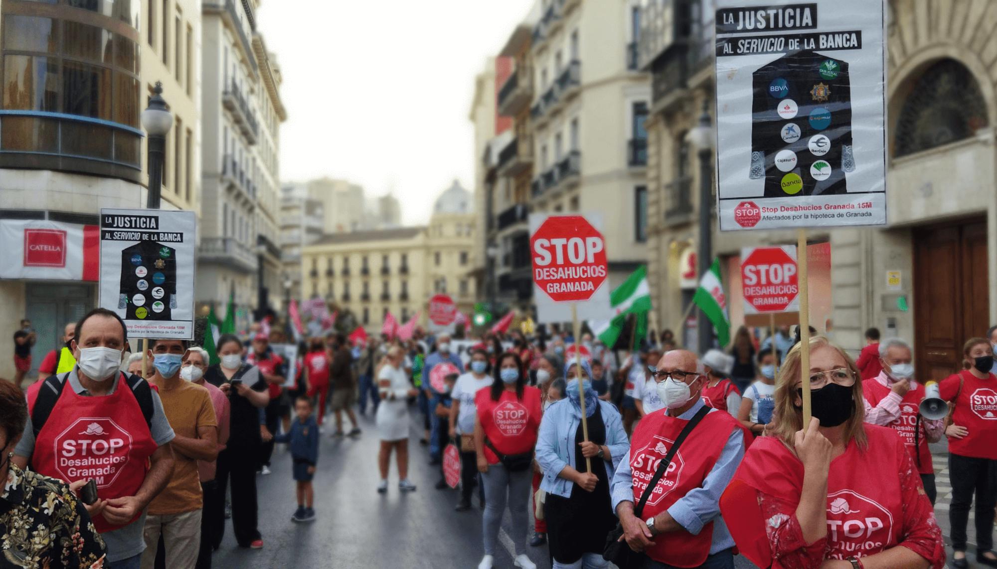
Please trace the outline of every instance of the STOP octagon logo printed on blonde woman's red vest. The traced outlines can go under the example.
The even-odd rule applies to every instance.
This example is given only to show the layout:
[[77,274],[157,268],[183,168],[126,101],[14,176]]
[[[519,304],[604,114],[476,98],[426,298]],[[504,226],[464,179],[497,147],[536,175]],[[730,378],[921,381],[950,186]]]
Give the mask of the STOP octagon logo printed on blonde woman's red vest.
[[893,515],[877,501],[854,490],[828,494],[828,540],[831,559],[881,551],[893,534]]

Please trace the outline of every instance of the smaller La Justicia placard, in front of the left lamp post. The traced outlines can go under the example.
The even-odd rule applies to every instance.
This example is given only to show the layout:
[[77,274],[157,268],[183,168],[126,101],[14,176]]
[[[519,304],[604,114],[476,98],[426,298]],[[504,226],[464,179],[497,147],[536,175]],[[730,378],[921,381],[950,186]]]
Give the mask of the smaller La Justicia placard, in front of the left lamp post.
[[101,210],[101,306],[130,337],[193,339],[194,212]]

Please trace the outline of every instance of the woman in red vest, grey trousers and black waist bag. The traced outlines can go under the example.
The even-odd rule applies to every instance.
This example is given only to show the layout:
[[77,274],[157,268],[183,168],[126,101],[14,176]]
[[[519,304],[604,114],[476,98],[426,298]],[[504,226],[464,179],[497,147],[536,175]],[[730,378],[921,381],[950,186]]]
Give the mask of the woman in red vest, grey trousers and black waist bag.
[[533,447],[540,427],[540,390],[525,385],[519,356],[505,352],[498,357],[496,381],[491,388],[478,391],[475,407],[478,411],[475,449],[486,502],[485,557],[478,568],[492,569],[507,494],[515,565],[535,569],[525,551],[529,523],[526,503],[532,478]]

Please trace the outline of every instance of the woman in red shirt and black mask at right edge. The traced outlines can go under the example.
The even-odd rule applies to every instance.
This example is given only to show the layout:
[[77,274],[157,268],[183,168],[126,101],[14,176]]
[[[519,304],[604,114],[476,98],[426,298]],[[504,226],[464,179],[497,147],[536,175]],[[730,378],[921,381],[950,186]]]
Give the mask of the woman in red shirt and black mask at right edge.
[[976,491],[976,562],[997,567],[994,556],[994,502],[997,498],[997,377],[990,341],[970,338],[962,348],[963,371],[939,385],[941,398],[954,404],[948,436],[948,470],[952,480],[949,519],[952,566],[966,562],[966,523]]

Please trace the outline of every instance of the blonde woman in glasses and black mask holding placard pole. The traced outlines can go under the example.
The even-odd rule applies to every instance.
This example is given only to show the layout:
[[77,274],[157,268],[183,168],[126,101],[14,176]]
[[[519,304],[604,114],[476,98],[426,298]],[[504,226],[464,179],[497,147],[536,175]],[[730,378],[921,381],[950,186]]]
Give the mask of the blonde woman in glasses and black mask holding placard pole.
[[844,351],[820,336],[809,347],[810,425],[797,344],[780,369],[771,436],[755,440],[728,488],[756,491],[758,522],[746,528],[751,512],[729,510],[726,493],[721,502],[739,546],[757,550],[750,534],[764,535],[762,561],[776,568],[940,569],[941,530],[903,442],[863,423],[858,368]]

